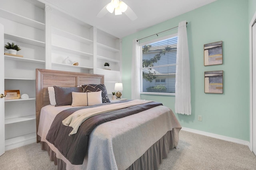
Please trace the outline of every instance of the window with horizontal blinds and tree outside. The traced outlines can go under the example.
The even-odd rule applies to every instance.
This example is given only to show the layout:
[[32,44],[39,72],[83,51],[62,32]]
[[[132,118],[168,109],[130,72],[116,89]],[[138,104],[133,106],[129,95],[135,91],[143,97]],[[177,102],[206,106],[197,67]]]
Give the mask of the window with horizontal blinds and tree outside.
[[141,93],[174,94],[176,76],[177,35],[140,45]]

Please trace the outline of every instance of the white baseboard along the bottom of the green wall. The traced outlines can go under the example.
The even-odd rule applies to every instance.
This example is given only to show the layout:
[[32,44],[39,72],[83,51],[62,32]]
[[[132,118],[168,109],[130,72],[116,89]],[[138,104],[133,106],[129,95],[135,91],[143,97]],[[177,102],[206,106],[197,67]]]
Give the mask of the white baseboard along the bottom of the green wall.
[[216,139],[221,139],[221,140],[224,140],[224,141],[234,142],[234,143],[238,143],[238,144],[242,144],[242,145],[246,145],[246,146],[250,147],[250,142],[244,141],[244,140],[241,140],[241,139],[226,137],[226,136],[217,135],[217,134],[214,134],[214,133],[208,133],[208,132],[204,132],[204,131],[198,131],[198,130],[194,130],[194,129],[190,129],[190,128],[186,128],[186,127],[182,127],[181,130],[196,133],[196,134],[199,134],[199,135],[208,136],[208,137],[213,137],[213,138],[216,138]]

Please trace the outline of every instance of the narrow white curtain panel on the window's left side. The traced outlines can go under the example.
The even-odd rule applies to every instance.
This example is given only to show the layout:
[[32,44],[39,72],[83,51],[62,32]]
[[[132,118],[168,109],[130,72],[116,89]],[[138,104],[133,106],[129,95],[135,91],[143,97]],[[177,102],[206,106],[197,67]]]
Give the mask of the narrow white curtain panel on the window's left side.
[[140,99],[140,51],[136,39],[132,42],[132,100]]

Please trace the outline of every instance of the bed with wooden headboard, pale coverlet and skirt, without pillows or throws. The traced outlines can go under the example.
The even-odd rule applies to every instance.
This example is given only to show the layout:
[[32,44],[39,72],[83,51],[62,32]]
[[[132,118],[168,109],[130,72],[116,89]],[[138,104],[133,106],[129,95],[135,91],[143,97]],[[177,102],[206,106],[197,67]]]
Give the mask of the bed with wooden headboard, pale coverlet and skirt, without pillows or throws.
[[[177,147],[181,129],[172,110],[162,105],[97,125],[88,136],[82,164],[72,164],[55,145],[46,140],[52,131],[54,119],[60,115],[58,113],[72,107],[52,106],[48,87],[77,87],[82,84],[104,84],[104,76],[36,69],[37,142],[41,143],[42,150],[48,151],[50,160],[58,165],[58,170],[158,169],[169,149]],[[117,107],[119,104],[108,105]]]

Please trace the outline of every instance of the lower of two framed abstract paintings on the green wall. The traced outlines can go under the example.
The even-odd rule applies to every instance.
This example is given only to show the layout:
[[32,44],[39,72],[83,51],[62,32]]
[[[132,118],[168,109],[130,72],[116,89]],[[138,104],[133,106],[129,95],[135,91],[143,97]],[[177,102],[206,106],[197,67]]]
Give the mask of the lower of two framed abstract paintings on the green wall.
[[204,72],[204,92],[223,93],[223,70]]

